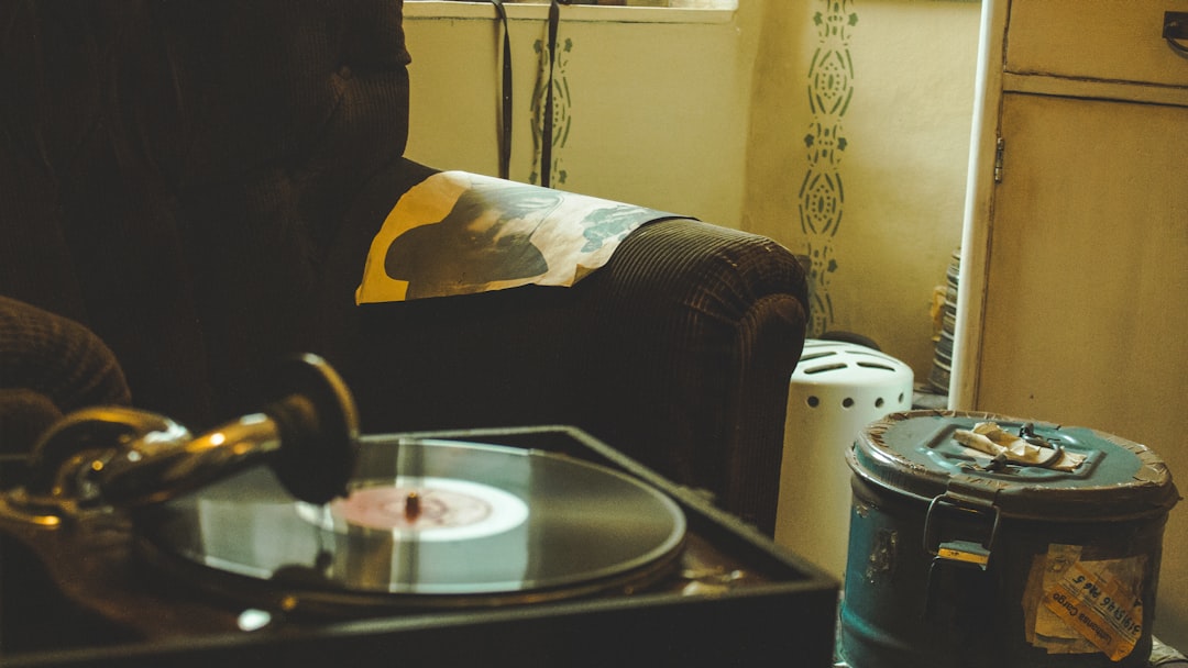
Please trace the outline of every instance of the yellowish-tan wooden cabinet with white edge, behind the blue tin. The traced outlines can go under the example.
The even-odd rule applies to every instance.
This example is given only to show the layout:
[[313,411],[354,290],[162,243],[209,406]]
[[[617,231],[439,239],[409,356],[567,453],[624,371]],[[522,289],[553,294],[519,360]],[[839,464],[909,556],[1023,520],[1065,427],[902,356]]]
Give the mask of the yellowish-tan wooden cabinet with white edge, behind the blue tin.
[[[1162,37],[1188,1],[982,11],[952,405],[1146,444],[1188,489],[1188,57]],[[1188,628],[1184,514],[1170,629]]]

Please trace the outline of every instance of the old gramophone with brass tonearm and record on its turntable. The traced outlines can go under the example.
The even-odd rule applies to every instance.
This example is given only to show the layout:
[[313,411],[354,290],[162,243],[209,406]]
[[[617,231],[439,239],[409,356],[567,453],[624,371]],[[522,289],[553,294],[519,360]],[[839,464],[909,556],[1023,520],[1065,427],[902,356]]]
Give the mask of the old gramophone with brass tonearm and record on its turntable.
[[359,437],[312,356],[263,405],[2,463],[0,663],[832,664],[836,583],[576,428]]

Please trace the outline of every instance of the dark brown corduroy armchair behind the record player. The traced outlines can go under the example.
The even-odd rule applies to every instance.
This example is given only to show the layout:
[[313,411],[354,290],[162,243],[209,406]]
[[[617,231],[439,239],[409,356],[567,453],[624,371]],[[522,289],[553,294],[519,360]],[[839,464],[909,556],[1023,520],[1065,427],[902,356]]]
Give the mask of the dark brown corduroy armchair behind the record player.
[[[372,236],[435,173],[403,157],[400,23],[400,0],[0,2],[5,448],[33,395],[197,430],[312,351],[366,432],[573,425],[771,533],[807,312],[771,240],[665,220],[573,287],[355,306]],[[67,358],[30,368],[31,313],[70,323],[43,349],[96,337],[115,389],[38,381]]]

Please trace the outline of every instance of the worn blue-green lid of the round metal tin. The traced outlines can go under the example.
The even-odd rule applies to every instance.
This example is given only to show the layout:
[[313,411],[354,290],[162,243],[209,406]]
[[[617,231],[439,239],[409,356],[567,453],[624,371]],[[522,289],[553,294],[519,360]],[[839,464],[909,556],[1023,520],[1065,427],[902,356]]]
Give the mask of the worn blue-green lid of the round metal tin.
[[[1083,462],[1070,471],[992,464],[990,454],[954,438],[979,422],[1026,428]],[[946,494],[975,498],[1019,519],[1119,520],[1167,513],[1180,500],[1167,465],[1146,446],[1086,427],[992,413],[893,413],[859,434],[847,460],[867,483],[924,501]]]

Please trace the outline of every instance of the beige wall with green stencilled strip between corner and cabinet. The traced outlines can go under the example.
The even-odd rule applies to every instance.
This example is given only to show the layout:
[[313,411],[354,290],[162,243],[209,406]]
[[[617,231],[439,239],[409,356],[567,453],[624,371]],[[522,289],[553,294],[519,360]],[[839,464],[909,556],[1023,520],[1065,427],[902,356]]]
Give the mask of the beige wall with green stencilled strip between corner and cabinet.
[[[746,227],[815,262],[814,333],[873,338],[924,380],[931,367],[929,300],[960,243],[977,64],[977,2],[866,0],[840,5],[845,34],[822,37],[824,2],[764,8],[751,116]],[[798,11],[790,11],[790,7]],[[853,17],[853,18],[851,18]],[[809,79],[836,55],[852,63],[843,113],[814,109]],[[828,74],[828,66],[816,65]],[[839,85],[839,84],[834,84]],[[842,91],[838,91],[839,94]],[[829,100],[826,100],[827,102]],[[821,121],[843,148],[810,165]],[[815,167],[815,168],[810,168]],[[802,197],[805,174],[840,176],[832,198]],[[829,193],[827,193],[829,195]],[[833,231],[805,233],[802,204],[839,208]],[[820,216],[817,216],[820,218]],[[819,220],[819,222],[822,222]],[[830,267],[834,267],[830,271]]]

